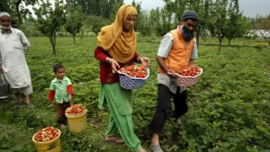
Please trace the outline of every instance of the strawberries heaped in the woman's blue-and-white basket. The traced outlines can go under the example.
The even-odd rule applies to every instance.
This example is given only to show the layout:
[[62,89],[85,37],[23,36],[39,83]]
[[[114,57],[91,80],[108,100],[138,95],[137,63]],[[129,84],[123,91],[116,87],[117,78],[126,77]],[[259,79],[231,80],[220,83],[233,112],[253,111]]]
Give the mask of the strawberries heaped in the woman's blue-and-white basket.
[[121,67],[119,70],[121,73],[125,73],[130,77],[145,78],[148,76],[148,72],[144,66],[130,65],[128,67]]

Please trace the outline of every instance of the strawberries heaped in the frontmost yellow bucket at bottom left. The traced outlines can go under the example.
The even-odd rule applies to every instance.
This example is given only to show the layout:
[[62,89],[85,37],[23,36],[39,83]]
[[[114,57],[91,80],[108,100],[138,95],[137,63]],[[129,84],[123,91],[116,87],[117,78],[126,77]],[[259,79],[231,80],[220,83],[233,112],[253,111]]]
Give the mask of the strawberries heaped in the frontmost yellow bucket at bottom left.
[[34,139],[37,142],[47,142],[52,139],[56,139],[59,135],[59,131],[55,129],[54,127],[46,127],[42,130],[39,130],[35,136]]

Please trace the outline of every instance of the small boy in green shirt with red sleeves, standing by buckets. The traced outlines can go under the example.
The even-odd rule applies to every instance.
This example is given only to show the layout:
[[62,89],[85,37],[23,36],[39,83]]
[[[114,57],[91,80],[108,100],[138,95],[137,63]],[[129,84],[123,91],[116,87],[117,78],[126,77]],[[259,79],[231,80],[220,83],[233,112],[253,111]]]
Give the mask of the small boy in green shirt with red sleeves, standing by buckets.
[[53,67],[53,71],[56,78],[50,83],[48,99],[57,106],[58,124],[63,129],[66,127],[65,123],[67,122],[65,111],[70,106],[74,93],[70,79],[65,76],[65,67],[61,64],[56,64]]

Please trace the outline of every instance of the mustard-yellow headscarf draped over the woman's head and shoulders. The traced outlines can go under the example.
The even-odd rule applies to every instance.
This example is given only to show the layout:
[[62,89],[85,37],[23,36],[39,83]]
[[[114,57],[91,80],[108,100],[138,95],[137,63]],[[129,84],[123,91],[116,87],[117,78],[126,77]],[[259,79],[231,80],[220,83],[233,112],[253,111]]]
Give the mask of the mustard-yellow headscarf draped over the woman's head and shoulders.
[[112,58],[120,63],[130,61],[137,47],[137,37],[134,29],[129,33],[122,31],[123,21],[133,14],[137,14],[137,11],[132,5],[121,5],[115,21],[111,25],[103,27],[97,36],[97,45],[108,51]]

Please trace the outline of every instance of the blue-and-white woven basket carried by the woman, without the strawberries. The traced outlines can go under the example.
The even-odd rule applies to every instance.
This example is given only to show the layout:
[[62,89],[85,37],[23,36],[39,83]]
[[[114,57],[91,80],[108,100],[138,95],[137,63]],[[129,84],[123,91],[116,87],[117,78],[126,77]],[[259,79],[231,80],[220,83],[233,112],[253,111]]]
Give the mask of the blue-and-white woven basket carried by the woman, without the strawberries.
[[[147,69],[148,76],[149,76],[149,69]],[[145,80],[148,78],[148,76],[141,78],[141,77],[130,77],[129,75],[125,73],[121,73],[120,71],[117,71],[119,73],[119,79],[120,79],[120,85],[124,89],[139,89],[143,85],[145,85]]]

